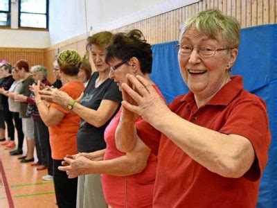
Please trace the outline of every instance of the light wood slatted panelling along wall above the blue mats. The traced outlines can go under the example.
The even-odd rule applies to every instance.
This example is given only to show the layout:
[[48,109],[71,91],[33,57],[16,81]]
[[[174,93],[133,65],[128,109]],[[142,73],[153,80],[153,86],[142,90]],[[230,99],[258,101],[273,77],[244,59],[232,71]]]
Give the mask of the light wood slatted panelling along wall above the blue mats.
[[[204,0],[184,8],[172,10],[162,15],[118,28],[113,33],[129,31],[134,28],[143,32],[151,44],[177,40],[179,28],[188,17],[208,8],[218,8],[226,15],[238,19],[242,28],[260,24],[277,23],[277,0]],[[80,35],[71,40],[49,47],[45,50],[44,64],[52,69],[55,60],[55,49],[75,49],[81,55],[85,53],[86,35]],[[50,77],[50,80],[52,75]]]

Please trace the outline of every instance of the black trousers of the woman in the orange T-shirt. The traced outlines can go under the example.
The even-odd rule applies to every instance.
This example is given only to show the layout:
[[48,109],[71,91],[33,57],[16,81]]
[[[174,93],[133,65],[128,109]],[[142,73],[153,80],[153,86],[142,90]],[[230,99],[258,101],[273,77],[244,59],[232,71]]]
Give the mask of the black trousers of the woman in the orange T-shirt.
[[69,179],[66,172],[57,169],[58,166],[62,166],[62,160],[53,159],[53,177],[57,206],[60,208],[75,208],[78,177]]

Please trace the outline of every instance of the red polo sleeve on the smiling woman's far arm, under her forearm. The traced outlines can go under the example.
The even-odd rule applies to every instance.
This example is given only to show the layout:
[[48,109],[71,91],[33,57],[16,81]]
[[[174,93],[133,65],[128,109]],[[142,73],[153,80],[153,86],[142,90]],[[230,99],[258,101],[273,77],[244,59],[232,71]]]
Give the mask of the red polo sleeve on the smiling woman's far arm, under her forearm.
[[136,122],[136,132],[143,143],[152,150],[152,153],[158,155],[161,132],[143,120]]

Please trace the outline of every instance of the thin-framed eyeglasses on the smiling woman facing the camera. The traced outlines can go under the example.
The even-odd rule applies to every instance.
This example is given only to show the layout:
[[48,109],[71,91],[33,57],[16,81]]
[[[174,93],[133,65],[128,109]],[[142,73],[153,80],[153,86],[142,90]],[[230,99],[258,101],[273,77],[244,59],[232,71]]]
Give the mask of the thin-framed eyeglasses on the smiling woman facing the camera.
[[194,47],[190,44],[177,44],[176,49],[178,50],[179,55],[190,55],[193,52],[193,49],[197,48],[197,53],[201,58],[212,58],[215,55],[216,51],[229,50],[231,48],[217,49],[215,46],[197,46]]

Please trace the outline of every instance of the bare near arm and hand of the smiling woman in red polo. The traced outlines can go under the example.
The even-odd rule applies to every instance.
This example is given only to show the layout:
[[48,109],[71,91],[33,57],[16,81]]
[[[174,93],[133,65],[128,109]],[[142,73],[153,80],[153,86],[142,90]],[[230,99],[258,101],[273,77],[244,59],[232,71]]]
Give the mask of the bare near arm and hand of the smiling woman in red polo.
[[208,170],[224,177],[241,177],[249,170],[255,159],[249,139],[224,135],[182,119],[170,111],[147,80],[127,77],[138,92],[126,84],[122,87],[137,105],[123,101],[124,107],[139,114]]

